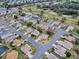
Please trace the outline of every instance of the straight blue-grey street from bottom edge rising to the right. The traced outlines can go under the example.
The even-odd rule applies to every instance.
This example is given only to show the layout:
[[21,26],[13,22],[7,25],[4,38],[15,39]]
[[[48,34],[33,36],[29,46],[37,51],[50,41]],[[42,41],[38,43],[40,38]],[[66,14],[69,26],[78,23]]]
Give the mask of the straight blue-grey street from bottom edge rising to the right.
[[67,34],[64,30],[58,30],[58,33],[54,36],[54,38],[46,45],[39,47],[37,49],[36,54],[32,59],[40,59],[40,57],[60,38],[61,35]]

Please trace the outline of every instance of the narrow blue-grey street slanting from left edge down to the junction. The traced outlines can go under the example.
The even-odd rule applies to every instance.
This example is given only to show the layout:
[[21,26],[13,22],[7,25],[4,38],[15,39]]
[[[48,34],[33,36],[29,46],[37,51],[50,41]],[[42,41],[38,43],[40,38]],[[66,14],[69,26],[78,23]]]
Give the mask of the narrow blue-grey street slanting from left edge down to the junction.
[[41,46],[40,44],[38,44],[37,42],[35,42],[33,39],[29,38],[28,36],[16,31],[15,29],[13,29],[13,27],[9,26],[8,23],[6,23],[5,21],[1,21],[2,23],[4,22],[5,25],[7,25],[11,31],[13,31],[15,34],[21,36],[23,39],[25,39],[26,41],[29,41],[30,43],[32,43],[36,48],[38,48],[38,46]]

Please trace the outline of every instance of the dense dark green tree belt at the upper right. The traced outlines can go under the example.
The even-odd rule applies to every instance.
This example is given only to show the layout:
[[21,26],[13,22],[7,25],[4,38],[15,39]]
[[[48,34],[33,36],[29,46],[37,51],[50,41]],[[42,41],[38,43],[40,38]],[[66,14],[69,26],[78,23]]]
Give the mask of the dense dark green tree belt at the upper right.
[[43,6],[42,8],[49,8],[54,12],[66,14],[66,15],[79,15],[79,2],[71,1],[63,4],[51,4],[49,6]]

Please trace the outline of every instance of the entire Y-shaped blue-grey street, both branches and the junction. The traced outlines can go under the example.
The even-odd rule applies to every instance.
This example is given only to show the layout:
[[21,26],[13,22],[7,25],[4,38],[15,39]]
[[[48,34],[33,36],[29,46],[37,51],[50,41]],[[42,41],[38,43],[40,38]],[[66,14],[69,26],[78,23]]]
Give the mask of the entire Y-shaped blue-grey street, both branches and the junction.
[[[6,23],[5,23],[6,24]],[[64,30],[57,30],[58,33],[54,36],[54,38],[47,44],[47,45],[40,45],[37,42],[35,42],[34,40],[32,40],[31,38],[23,35],[22,33],[16,31],[15,29],[13,29],[11,26],[9,26],[9,24],[6,24],[14,33],[20,35],[23,39],[28,40],[29,42],[31,42],[36,48],[37,51],[35,53],[35,55],[33,56],[32,59],[40,59],[40,57],[53,45],[55,44],[55,42],[60,38],[61,35],[67,34],[66,31]]]

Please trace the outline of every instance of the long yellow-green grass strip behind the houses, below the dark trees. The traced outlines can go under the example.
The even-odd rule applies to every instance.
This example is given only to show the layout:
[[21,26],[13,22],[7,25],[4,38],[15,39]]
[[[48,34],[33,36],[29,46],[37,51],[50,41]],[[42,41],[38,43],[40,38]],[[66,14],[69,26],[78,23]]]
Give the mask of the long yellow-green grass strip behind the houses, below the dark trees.
[[[31,8],[31,13],[40,14],[40,12],[41,12],[41,9],[37,9],[36,7],[23,7],[23,11],[30,12],[29,8]],[[76,22],[77,22],[77,20],[73,19],[72,17],[69,17],[67,15],[60,16],[56,12],[53,12],[51,10],[44,11],[43,16],[48,17],[48,18],[55,17],[55,18],[58,18],[59,20],[61,20],[63,17],[66,17],[66,19],[67,19],[66,23],[68,23],[68,24],[76,24]],[[77,18],[79,19],[79,17],[77,17]]]

